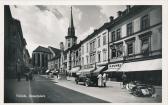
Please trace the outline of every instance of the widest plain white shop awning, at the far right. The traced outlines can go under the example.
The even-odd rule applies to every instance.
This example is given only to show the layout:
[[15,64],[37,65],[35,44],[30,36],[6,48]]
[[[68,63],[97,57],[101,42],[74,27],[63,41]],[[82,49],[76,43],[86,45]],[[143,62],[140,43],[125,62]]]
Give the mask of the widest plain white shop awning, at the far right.
[[162,59],[124,63],[120,72],[162,70]]

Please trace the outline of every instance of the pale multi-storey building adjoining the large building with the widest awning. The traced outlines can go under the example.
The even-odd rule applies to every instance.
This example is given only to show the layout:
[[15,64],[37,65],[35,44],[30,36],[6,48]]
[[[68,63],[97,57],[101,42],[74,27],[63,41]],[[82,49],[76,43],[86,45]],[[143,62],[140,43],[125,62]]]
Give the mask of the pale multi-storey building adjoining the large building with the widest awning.
[[108,65],[108,30],[109,23],[94,30],[92,34],[82,41],[80,72],[98,74],[107,69]]

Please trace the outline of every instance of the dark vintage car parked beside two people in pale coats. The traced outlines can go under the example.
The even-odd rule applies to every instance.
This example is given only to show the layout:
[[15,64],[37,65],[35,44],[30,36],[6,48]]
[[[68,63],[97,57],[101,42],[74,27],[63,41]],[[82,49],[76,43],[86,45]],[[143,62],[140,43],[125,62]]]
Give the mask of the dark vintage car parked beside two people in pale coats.
[[80,74],[75,78],[76,84],[83,83],[85,86],[98,86],[97,76],[91,74]]

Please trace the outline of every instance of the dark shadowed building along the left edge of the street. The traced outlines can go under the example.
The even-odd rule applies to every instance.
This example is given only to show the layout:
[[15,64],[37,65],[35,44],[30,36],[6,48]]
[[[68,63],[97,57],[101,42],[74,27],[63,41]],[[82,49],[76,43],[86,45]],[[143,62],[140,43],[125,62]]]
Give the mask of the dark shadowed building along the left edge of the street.
[[23,74],[26,40],[20,21],[12,17],[8,5],[4,6],[4,19],[4,73],[5,78],[15,78],[18,72]]

